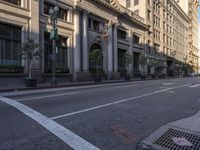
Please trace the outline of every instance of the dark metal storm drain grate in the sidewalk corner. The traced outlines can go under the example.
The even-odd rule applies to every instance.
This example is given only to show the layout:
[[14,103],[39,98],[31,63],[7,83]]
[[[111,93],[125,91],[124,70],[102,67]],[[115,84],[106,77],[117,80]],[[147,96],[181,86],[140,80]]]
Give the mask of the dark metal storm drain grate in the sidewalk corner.
[[[184,138],[191,143],[191,146],[175,144],[173,138]],[[169,150],[200,150],[200,136],[170,128],[154,144]]]

